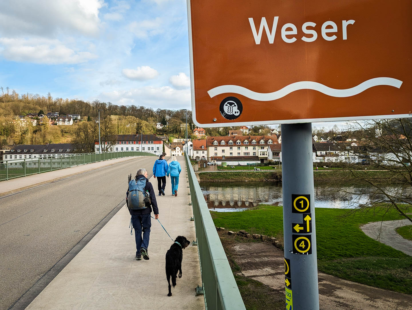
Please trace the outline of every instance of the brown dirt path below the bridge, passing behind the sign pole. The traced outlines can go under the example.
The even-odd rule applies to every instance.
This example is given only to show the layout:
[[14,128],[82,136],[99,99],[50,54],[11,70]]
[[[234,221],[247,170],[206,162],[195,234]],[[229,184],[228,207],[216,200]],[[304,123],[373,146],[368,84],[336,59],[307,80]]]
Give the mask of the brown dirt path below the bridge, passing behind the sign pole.
[[[231,245],[232,259],[239,265],[239,275],[252,278],[284,294],[283,251],[266,243],[241,242]],[[337,277],[318,274],[321,310],[407,310],[412,296],[377,289]]]

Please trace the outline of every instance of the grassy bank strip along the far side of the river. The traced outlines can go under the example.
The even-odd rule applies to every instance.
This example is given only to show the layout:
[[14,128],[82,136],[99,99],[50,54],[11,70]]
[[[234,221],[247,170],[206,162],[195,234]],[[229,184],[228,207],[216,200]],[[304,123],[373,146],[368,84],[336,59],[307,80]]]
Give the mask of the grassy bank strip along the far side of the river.
[[[356,173],[367,179],[388,179],[396,177],[396,174],[391,171],[370,171],[358,170]],[[346,170],[332,170],[332,171],[314,171],[315,181],[334,181],[344,180],[344,182],[357,181],[358,178],[352,176],[352,172]],[[282,171],[221,171],[221,172],[201,172],[199,173],[201,181],[281,181]]]

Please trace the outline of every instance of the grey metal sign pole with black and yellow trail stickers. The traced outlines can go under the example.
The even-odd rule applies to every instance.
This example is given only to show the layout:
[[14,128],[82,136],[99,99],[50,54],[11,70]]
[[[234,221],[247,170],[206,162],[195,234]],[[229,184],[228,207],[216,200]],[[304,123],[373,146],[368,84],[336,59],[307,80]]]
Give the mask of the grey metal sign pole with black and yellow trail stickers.
[[318,310],[311,123],[281,125],[287,310]]

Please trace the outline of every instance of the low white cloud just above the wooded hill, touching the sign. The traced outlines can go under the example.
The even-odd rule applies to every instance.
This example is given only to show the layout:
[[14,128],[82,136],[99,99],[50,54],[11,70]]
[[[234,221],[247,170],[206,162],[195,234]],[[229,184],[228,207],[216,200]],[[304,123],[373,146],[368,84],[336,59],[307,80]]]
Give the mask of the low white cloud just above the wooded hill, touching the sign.
[[136,89],[103,92],[101,100],[116,104],[138,104],[153,108],[178,109],[190,106],[189,89],[173,89],[170,86],[145,86]]

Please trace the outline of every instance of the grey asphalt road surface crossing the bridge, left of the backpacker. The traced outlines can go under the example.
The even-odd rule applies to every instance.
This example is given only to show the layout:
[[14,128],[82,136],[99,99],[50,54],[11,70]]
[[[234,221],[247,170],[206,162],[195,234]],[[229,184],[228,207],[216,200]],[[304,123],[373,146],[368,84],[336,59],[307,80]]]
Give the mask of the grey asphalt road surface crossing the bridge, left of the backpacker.
[[127,175],[138,168],[150,175],[155,160],[139,157],[0,197],[0,309],[13,305],[122,202]]

